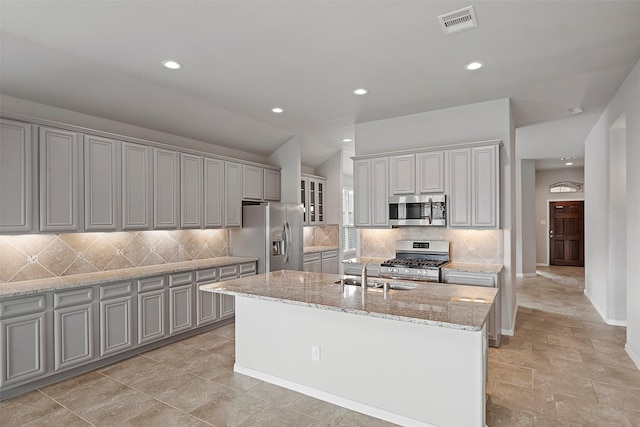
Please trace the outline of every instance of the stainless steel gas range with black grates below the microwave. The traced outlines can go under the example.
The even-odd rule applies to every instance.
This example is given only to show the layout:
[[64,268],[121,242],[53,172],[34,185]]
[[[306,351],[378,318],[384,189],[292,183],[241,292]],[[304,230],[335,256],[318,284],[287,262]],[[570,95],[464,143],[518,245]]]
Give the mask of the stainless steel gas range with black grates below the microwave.
[[449,261],[446,240],[397,240],[396,257],[381,264],[380,276],[441,282],[440,267]]

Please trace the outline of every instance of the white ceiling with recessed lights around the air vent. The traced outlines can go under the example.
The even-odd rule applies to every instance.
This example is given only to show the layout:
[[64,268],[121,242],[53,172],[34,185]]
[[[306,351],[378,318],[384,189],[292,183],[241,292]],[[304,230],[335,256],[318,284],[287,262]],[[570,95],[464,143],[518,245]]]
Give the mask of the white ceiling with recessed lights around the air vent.
[[[469,5],[478,27],[445,35],[437,16]],[[302,135],[311,167],[356,123],[509,97],[519,157],[579,157],[640,59],[639,16],[640,1],[2,0],[0,91],[262,156]]]

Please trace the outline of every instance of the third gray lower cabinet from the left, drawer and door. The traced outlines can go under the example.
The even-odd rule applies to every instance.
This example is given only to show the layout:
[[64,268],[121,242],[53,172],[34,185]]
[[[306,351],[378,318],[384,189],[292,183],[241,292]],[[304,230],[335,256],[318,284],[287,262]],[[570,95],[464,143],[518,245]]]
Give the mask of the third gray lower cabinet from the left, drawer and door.
[[100,357],[133,348],[134,307],[132,282],[100,286]]

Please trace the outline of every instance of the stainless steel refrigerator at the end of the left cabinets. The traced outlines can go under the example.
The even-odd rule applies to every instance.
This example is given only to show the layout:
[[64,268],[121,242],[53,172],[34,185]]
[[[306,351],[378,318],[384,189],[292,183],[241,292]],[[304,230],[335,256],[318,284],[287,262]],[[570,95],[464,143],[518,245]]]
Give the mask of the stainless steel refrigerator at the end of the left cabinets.
[[302,270],[302,240],[302,205],[292,203],[245,205],[229,233],[231,255],[258,258],[258,273]]

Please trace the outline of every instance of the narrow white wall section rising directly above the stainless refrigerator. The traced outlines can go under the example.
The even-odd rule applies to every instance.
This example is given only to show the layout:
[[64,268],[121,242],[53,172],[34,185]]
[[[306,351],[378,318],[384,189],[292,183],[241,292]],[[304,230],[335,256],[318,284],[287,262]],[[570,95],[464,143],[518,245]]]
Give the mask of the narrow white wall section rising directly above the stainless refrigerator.
[[280,201],[283,203],[302,203],[300,200],[300,157],[302,137],[294,136],[285,142],[267,159],[280,171]]

